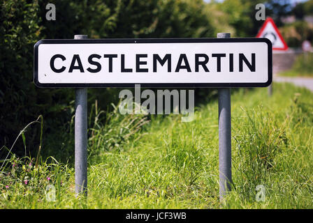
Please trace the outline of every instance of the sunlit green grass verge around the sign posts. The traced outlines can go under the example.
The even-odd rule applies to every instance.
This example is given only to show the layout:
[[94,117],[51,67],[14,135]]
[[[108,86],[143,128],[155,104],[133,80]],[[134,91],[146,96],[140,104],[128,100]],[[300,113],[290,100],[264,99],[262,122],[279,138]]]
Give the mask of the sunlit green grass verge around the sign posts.
[[[233,190],[224,205],[215,100],[197,107],[189,123],[177,115],[146,123],[144,116],[117,113],[105,125],[94,121],[87,200],[75,198],[70,165],[49,158],[29,166],[31,158],[12,155],[0,176],[0,208],[313,208],[313,94],[275,84],[271,98],[267,89],[231,97]],[[49,184],[55,202],[45,199]],[[255,199],[256,185],[265,186],[264,202]]]

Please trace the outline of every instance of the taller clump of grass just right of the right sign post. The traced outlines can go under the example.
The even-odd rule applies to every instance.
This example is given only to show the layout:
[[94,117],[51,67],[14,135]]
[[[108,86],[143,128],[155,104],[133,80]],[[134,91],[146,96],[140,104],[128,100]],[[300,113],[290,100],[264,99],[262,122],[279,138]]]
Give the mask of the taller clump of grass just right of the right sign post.
[[275,158],[288,145],[285,129],[290,118],[280,123],[262,107],[245,111],[245,114],[247,121],[243,125],[235,123],[236,128],[240,128],[240,134],[234,137],[238,153],[235,190],[242,194],[242,199],[255,201],[256,185],[266,183],[275,171]]

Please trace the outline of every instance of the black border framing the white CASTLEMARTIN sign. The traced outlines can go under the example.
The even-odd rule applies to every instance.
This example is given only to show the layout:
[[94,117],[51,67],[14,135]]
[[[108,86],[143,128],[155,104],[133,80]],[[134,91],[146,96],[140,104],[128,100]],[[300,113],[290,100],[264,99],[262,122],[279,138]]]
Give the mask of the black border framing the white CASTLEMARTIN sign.
[[[268,44],[268,82],[265,83],[105,83],[105,84],[42,84],[38,82],[38,46],[41,44],[82,44],[82,43],[267,43]],[[272,43],[268,38],[138,38],[138,39],[65,39],[39,40],[34,45],[34,83],[40,88],[101,88],[101,87],[141,87],[158,88],[240,88],[265,87],[272,83]]]

